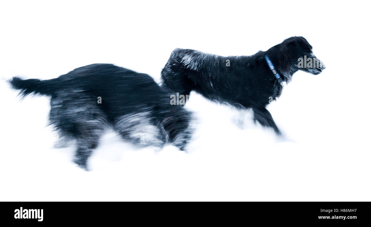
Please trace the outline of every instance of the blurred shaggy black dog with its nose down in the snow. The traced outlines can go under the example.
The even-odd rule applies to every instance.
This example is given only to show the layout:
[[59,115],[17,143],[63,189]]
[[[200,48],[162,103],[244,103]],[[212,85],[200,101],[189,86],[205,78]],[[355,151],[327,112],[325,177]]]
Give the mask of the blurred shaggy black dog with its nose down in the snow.
[[170,105],[170,92],[147,74],[112,64],[91,64],[51,80],[21,80],[10,84],[24,96],[51,96],[50,124],[62,136],[76,140],[75,163],[87,169],[87,159],[105,128],[139,146],[173,143],[184,150],[190,139],[191,114]]

